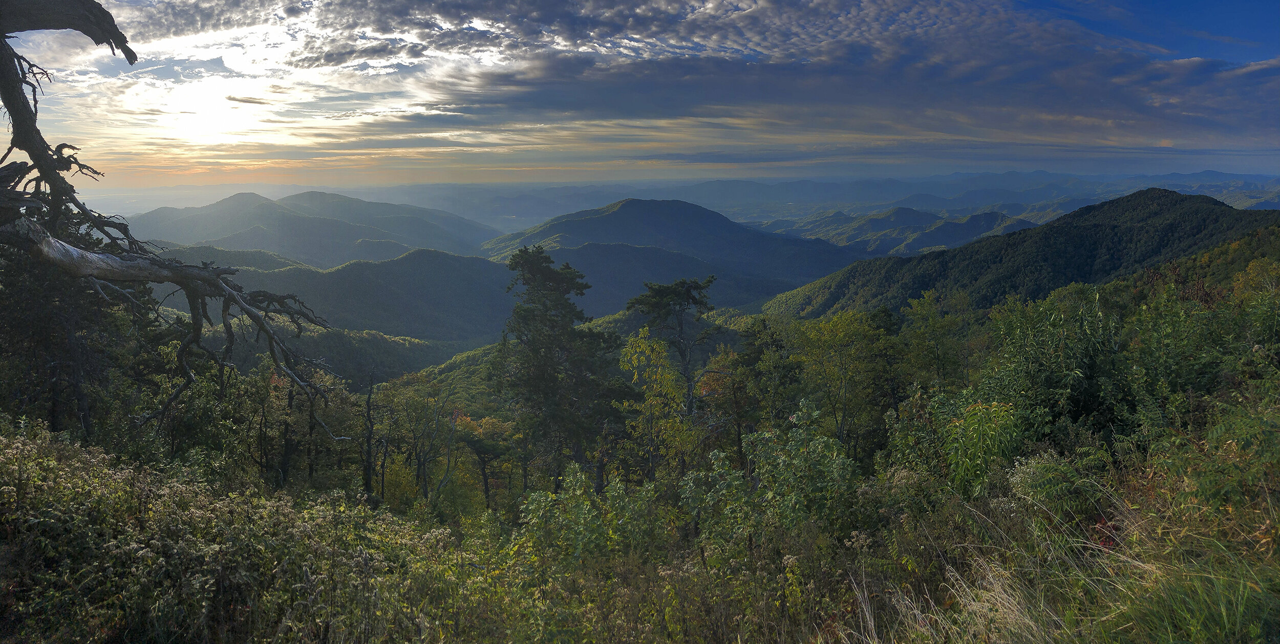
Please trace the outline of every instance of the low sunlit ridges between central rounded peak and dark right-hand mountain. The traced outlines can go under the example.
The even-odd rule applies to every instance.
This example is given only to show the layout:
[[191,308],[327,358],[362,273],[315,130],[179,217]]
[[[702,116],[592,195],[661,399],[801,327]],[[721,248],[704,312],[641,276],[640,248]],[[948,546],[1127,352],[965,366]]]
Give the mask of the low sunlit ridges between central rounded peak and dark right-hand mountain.
[[772,221],[759,227],[785,235],[826,239],[837,245],[865,249],[869,254],[915,254],[929,248],[954,248],[980,236],[1002,235],[1034,225],[1000,212],[945,217],[897,207],[870,215],[826,212],[800,221]]

